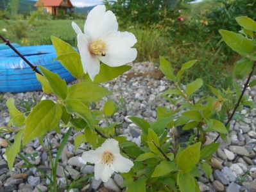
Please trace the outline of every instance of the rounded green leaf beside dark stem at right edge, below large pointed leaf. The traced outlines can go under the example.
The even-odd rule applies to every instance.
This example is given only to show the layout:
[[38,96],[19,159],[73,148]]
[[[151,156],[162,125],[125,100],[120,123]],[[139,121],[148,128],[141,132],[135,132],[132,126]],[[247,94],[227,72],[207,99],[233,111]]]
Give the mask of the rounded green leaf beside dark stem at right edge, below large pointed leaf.
[[253,61],[248,60],[248,58],[242,58],[241,60],[235,62],[234,74],[237,79],[243,79],[245,76],[252,72]]

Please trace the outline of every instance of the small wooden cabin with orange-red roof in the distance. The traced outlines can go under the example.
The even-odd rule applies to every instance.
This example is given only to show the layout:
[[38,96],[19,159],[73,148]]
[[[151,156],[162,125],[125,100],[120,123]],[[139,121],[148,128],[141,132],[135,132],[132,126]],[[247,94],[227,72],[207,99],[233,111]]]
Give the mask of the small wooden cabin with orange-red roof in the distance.
[[38,0],[35,6],[46,10],[51,15],[58,15],[61,12],[66,14],[73,8],[70,0]]

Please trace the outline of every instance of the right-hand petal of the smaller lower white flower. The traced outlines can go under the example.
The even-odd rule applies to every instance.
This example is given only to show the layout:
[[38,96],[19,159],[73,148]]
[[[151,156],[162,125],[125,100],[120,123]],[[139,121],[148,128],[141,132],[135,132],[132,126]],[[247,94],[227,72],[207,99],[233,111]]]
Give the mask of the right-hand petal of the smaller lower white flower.
[[127,173],[133,167],[133,162],[130,159],[124,158],[121,154],[114,154],[113,162],[114,171],[120,173]]

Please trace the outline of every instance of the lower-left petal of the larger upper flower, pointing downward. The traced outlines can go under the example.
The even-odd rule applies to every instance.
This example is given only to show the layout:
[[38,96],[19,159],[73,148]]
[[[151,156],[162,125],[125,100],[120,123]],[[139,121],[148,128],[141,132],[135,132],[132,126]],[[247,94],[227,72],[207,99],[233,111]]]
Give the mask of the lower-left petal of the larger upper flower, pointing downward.
[[90,54],[89,41],[84,34],[78,35],[78,50],[81,56],[81,63],[83,65],[83,71],[88,72],[90,79],[94,81],[94,77],[99,74],[99,60],[96,56]]

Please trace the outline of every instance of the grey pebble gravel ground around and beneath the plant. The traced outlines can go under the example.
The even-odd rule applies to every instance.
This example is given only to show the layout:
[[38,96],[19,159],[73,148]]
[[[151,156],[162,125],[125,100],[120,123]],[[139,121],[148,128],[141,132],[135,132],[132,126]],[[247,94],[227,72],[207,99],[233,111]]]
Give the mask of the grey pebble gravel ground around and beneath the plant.
[[[116,102],[119,102],[120,110],[115,113],[113,120],[123,122],[121,131],[128,140],[132,140],[141,145],[141,130],[130,120],[128,116],[139,116],[153,122],[156,118],[157,106],[170,106],[164,99],[159,97],[161,92],[169,88],[166,79],[161,78],[160,74],[152,63],[135,63],[132,70],[123,76],[105,83],[104,86],[114,94],[111,96]],[[256,102],[255,90],[247,90],[250,97]],[[27,111],[34,106],[40,99],[46,96],[41,92],[28,92],[0,95],[0,127],[7,124],[8,111],[5,107],[6,99],[14,97],[17,106],[22,111]],[[49,97],[49,96],[47,96]],[[106,100],[106,99],[105,99]],[[102,100],[99,106],[102,106]],[[212,173],[210,179],[201,177],[198,181],[201,191],[256,191],[256,110],[250,113],[241,111],[244,115],[242,122],[231,122],[231,131],[228,141],[221,143],[221,148],[212,158]],[[104,125],[104,122],[102,123]],[[56,157],[56,151],[60,145],[65,129],[60,134],[50,132],[47,138],[51,143],[53,157]],[[60,188],[65,188],[71,180],[79,174],[87,175],[93,173],[92,165],[83,166],[79,163],[78,157],[87,146],[81,145],[74,151],[74,138],[79,133],[73,132],[68,140],[67,147],[62,152],[61,161],[57,169],[57,177]],[[13,141],[15,134],[5,134],[2,138]],[[216,134],[209,135],[214,138]],[[37,164],[44,172],[51,173],[49,156],[47,154],[47,140],[44,140],[44,146],[41,146],[38,140],[33,141],[22,150],[22,154],[30,158],[30,162]],[[33,168],[24,168],[21,159],[15,160],[12,172],[8,171],[6,157],[4,152],[8,143],[0,138],[0,192],[2,191],[47,191],[49,180],[41,177],[40,173]],[[67,176],[67,180],[65,179]],[[73,191],[78,191],[74,189]],[[107,183],[90,179],[85,183],[81,191],[125,191],[123,188],[123,178],[119,174],[114,174]]]

